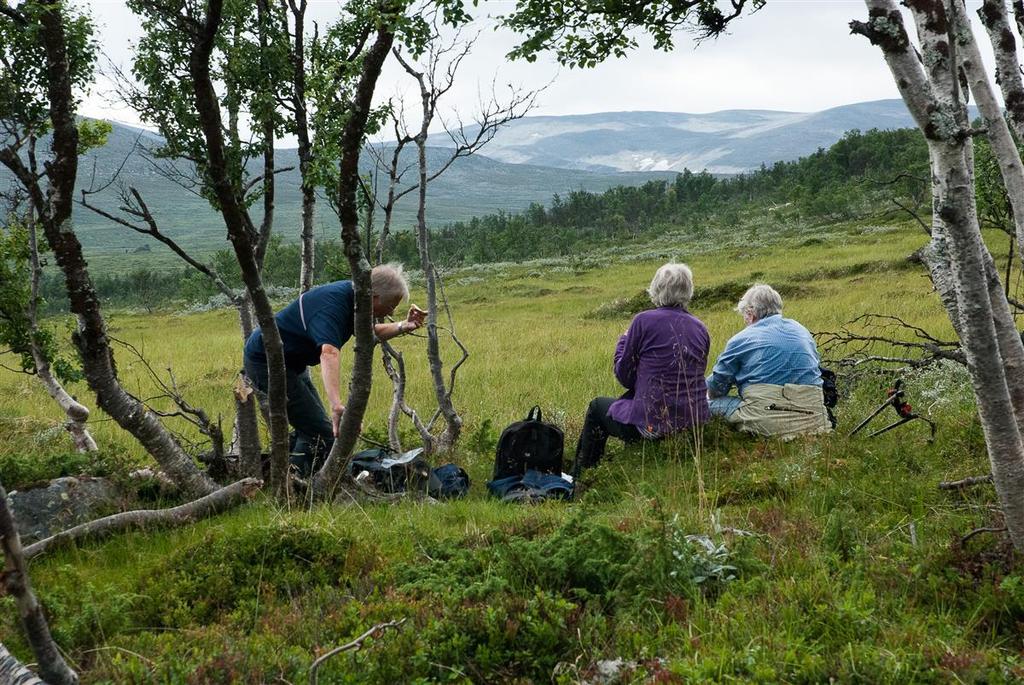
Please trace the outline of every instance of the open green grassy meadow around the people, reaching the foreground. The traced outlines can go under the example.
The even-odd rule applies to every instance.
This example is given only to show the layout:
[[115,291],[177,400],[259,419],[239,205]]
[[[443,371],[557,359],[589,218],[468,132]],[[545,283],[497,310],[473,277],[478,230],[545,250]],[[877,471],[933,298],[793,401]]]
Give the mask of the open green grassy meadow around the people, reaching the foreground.
[[[290,510],[260,500],[194,527],[40,557],[32,580],[54,637],[90,683],[308,682],[318,654],[397,619],[327,660],[319,682],[1019,682],[1024,574],[993,536],[959,544],[998,524],[995,495],[936,487],[988,471],[954,366],[904,376],[914,409],[938,423],[934,443],[916,423],[847,437],[885,398],[888,381],[865,377],[841,383],[833,435],[781,443],[713,423],[653,445],[609,441],[572,504],[504,505],[484,488],[498,433],[535,403],[571,455],[589,400],[617,394],[615,340],[669,258],[693,268],[692,310],[714,357],[741,327],[732,307],[754,281],[774,285],[785,314],[812,331],[874,312],[948,337],[926,274],[906,261],[925,240],[874,224],[771,240],[670,234],[643,252],[455,271],[447,292],[471,351],[456,394],[466,500]],[[157,373],[170,368],[229,430],[242,342],[230,311],[109,317],[114,337]],[[422,341],[398,345],[409,400],[428,408]],[[118,367],[133,392],[157,393],[127,349]],[[390,387],[379,367],[375,379],[365,425],[380,436]],[[98,413],[101,454],[70,454],[58,419],[32,379],[0,371],[8,489],[147,463]],[[0,604],[0,642],[31,661],[13,602]]]

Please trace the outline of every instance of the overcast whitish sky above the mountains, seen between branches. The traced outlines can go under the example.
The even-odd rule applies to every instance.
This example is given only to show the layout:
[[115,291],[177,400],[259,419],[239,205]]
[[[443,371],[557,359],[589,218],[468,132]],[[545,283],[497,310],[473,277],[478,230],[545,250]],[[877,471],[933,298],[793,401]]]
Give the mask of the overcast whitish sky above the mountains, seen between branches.
[[[98,25],[100,45],[115,63],[129,67],[138,22],[123,2],[87,3]],[[337,0],[310,0],[309,14],[329,23]],[[567,115],[611,111],[707,113],[759,109],[816,112],[865,100],[898,97],[879,48],[850,35],[848,24],[863,19],[861,0],[768,0],[757,13],[732,25],[729,35],[694,47],[680,35],[671,53],[653,50],[640,37],[640,49],[592,70],[560,68],[550,55],[538,61],[509,62],[505,54],[514,36],[494,30],[486,15],[501,13],[511,1],[484,1],[474,10],[483,33],[462,77],[447,96],[450,108],[471,116],[480,90],[492,80],[527,88],[554,82],[542,94],[534,115]],[[968,3],[973,15],[980,0]],[[987,37],[977,32],[983,52]],[[101,60],[102,61],[102,60]],[[991,68],[989,68],[991,73]],[[409,77],[389,60],[377,99],[412,93]],[[118,109],[100,83],[82,106],[88,116],[137,123],[132,112]]]

